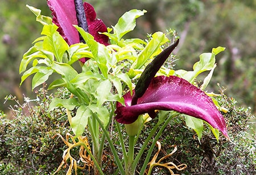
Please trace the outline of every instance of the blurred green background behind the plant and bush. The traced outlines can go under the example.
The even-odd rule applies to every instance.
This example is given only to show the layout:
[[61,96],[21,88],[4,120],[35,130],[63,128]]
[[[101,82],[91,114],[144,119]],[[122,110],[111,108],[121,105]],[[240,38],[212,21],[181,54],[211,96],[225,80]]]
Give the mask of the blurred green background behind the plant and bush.
[[[137,8],[147,13],[137,20],[137,28],[129,37],[146,39],[147,33],[166,32],[172,28],[180,36],[175,50],[175,69],[191,70],[199,55],[224,46],[208,91],[234,97],[241,106],[250,106],[256,114],[256,0],[100,0],[87,1],[96,8],[97,18],[110,27],[128,10]],[[19,88],[19,63],[31,42],[40,36],[42,25],[26,5],[51,16],[42,0],[0,1],[0,110],[8,112],[7,95],[15,95],[20,103],[23,94],[34,97],[31,80]],[[67,7],[68,8],[68,7]],[[220,87],[217,86],[220,83]]]

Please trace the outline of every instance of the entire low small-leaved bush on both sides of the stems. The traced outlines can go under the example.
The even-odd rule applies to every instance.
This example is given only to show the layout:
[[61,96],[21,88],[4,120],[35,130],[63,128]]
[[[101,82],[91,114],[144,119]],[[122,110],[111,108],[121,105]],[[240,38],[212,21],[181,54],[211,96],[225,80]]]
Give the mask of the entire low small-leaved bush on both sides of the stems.
[[[9,97],[10,100],[15,100],[17,105],[12,109],[15,117],[13,120],[6,119],[1,113],[0,174],[52,174],[59,167],[63,151],[67,147],[56,134],[65,136],[72,131],[65,109],[57,108],[54,112],[47,112],[49,103],[53,99],[53,95],[47,93],[44,87],[36,92],[35,104],[32,104],[33,100],[25,98],[26,103],[20,105],[15,97]],[[66,89],[60,88],[55,97],[68,99],[70,95]],[[160,137],[162,150],[158,160],[172,152],[174,148],[171,146],[175,144],[177,151],[164,161],[172,161],[176,165],[184,163],[188,166],[185,170],[175,173],[256,173],[255,133],[249,134],[251,127],[248,122],[255,117],[251,115],[249,108],[237,108],[236,100],[225,95],[218,97],[217,101],[221,106],[229,109],[224,117],[231,141],[220,136],[219,142],[217,142],[211,131],[205,130],[200,143],[195,132],[184,125],[183,117],[176,117]],[[154,122],[146,124],[141,138],[147,136],[148,130],[151,129]],[[115,126],[112,128],[113,140],[115,140]],[[116,167],[112,163],[114,160],[108,151],[108,144],[105,147],[104,157],[108,160],[103,160],[103,164],[106,174],[109,174],[109,171]],[[143,161],[138,168],[142,164]],[[166,169],[161,169],[161,167],[156,167],[153,172],[154,174],[159,174],[159,172],[168,174]],[[65,169],[58,174],[65,174]]]

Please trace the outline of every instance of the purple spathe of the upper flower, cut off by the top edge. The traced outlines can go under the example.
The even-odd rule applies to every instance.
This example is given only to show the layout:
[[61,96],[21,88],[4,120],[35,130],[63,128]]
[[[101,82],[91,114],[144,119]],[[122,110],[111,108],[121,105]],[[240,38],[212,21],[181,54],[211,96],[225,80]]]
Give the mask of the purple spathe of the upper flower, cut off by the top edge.
[[[75,0],[76,1],[76,0]],[[81,42],[79,32],[73,27],[77,25],[77,12],[74,0],[47,0],[47,4],[52,11],[52,22],[55,23],[59,28],[57,31],[63,36],[64,40],[69,45]],[[96,12],[92,5],[84,2],[83,5],[86,22],[88,24],[88,32],[94,36],[97,42],[104,45],[109,45],[108,36],[100,34],[99,32],[107,32],[106,25],[101,19],[96,19]],[[84,63],[85,58],[81,58],[80,61]]]

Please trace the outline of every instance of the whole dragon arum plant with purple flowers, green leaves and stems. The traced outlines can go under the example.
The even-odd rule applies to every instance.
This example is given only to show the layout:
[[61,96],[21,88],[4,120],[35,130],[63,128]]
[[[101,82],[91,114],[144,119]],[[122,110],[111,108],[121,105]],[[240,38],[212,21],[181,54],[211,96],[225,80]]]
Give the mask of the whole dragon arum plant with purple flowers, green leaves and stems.
[[[150,156],[155,144],[160,145],[157,142],[159,136],[171,119],[181,113],[185,115],[186,124],[196,131],[199,140],[204,123],[216,139],[219,138],[218,131],[228,138],[224,118],[218,110],[221,106],[214,100],[213,93],[203,91],[216,67],[215,56],[224,48],[214,48],[212,53],[201,54],[193,71],[175,71],[162,66],[179,43],[174,31],[173,41],[162,32],[153,33],[149,40],[123,38],[133,31],[135,20],[146,10],[130,10],[112,28],[106,28],[102,20],[96,19],[96,12],[89,3],[72,0],[47,2],[53,19],[27,6],[36,15],[36,20],[43,24],[43,29],[42,36],[24,54],[19,71],[23,73],[20,84],[34,74],[34,89],[51,76],[55,80],[49,84],[49,89],[65,87],[73,94],[70,99],[55,98],[49,106],[49,111],[57,106],[67,109],[74,134],[67,133],[66,140],[61,136],[68,149],[64,151],[63,162],[57,170],[69,159],[67,174],[72,173],[72,168],[77,173],[77,168],[84,169],[86,166],[93,167],[94,174],[104,174],[102,153],[107,141],[118,167],[116,174],[134,174],[136,169],[143,174],[148,163],[150,173],[152,166],[158,165],[154,164],[157,155],[151,161]],[[167,46],[170,42],[173,44]],[[77,61],[81,62],[81,71],[73,67]],[[195,79],[204,71],[209,71],[209,74],[199,88]],[[74,109],[76,114],[72,117],[70,111]],[[135,154],[134,146],[150,118],[155,118],[156,124]],[[122,157],[109,133],[113,119]],[[127,139],[122,134],[122,127],[126,128],[128,143],[125,142]],[[85,130],[89,132],[89,139],[83,136]],[[151,140],[153,136],[154,140]],[[70,139],[73,143],[69,143]],[[88,140],[92,142],[92,150]],[[150,142],[152,144],[143,167],[137,167]],[[77,146],[81,147],[83,167],[77,165],[77,160],[70,153]],[[183,164],[170,165],[185,168]],[[171,172],[171,168],[168,169]]]

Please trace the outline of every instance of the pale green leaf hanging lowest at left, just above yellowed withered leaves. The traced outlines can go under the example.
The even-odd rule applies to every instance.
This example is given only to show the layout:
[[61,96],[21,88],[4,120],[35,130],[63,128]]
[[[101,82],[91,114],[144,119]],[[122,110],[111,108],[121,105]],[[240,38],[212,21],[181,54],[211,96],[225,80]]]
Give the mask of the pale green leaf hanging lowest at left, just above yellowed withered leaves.
[[92,111],[88,106],[80,106],[77,109],[76,116],[72,118],[71,127],[76,137],[82,135],[88,123],[88,118],[92,116]]

